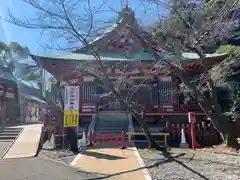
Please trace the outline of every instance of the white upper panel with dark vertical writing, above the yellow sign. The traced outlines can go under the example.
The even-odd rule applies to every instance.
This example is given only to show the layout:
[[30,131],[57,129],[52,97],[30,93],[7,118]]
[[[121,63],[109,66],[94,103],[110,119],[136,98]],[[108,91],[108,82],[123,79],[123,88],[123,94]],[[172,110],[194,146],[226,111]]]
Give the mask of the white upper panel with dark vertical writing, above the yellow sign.
[[65,86],[64,110],[79,110],[79,86]]

